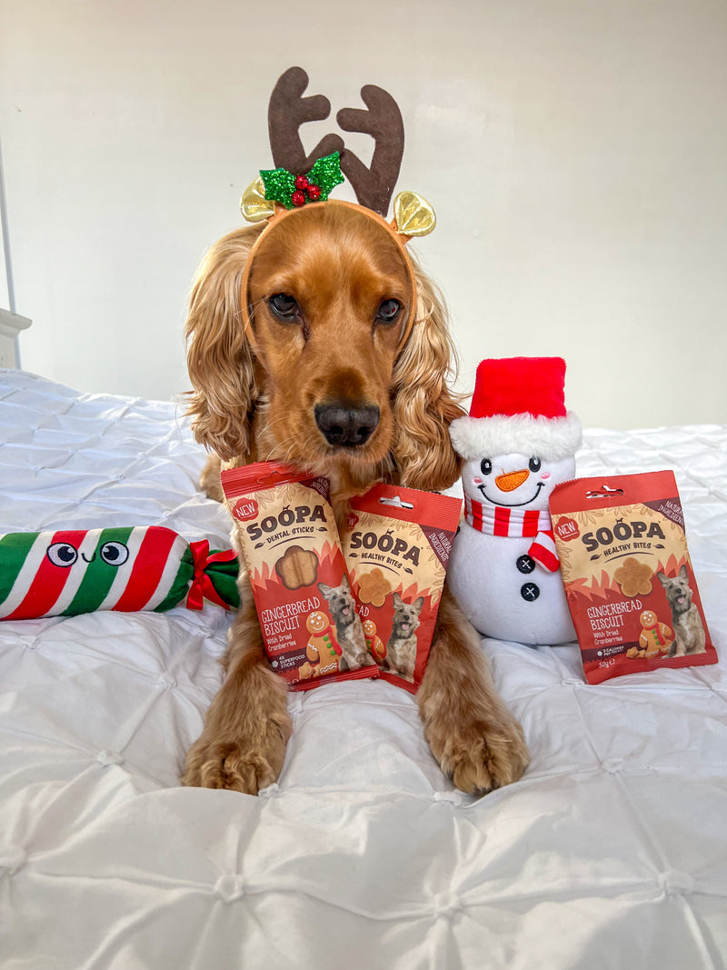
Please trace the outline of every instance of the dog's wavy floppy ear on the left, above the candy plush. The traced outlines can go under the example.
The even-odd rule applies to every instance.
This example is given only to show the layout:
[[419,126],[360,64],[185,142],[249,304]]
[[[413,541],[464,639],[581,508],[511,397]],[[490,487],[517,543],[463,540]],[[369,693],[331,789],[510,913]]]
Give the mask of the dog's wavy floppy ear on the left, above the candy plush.
[[186,324],[193,391],[187,413],[194,436],[224,461],[247,459],[258,398],[255,358],[240,314],[242,271],[262,226],[245,226],[216,242],[194,285]]

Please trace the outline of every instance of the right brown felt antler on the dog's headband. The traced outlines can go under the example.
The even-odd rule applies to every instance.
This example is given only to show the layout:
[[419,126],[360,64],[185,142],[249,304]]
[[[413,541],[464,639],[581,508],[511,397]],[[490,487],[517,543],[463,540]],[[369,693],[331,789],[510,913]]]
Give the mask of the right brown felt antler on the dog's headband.
[[[404,153],[404,122],[394,98],[375,84],[366,84],[361,97],[367,111],[343,108],[336,120],[344,131],[359,131],[375,142],[371,167],[345,148],[341,170],[351,182],[356,198],[366,209],[386,216]],[[333,149],[335,150],[335,149]]]

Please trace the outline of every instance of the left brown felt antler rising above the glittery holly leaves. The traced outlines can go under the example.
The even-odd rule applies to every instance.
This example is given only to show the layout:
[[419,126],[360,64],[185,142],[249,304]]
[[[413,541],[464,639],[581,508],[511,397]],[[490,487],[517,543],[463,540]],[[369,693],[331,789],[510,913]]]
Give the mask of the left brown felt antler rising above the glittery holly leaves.
[[268,130],[272,160],[278,168],[294,175],[309,172],[314,162],[333,151],[343,150],[338,135],[326,135],[309,155],[300,141],[300,125],[323,121],[331,113],[331,102],[323,94],[303,98],[308,76],[300,67],[291,67],[280,76],[270,95]]

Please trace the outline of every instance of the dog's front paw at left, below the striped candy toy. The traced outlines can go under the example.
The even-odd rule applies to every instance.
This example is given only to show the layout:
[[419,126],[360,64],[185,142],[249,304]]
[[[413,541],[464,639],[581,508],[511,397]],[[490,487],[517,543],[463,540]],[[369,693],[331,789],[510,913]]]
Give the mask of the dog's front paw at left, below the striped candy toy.
[[282,737],[263,750],[235,740],[208,743],[203,734],[189,749],[182,785],[257,794],[277,781],[284,759]]

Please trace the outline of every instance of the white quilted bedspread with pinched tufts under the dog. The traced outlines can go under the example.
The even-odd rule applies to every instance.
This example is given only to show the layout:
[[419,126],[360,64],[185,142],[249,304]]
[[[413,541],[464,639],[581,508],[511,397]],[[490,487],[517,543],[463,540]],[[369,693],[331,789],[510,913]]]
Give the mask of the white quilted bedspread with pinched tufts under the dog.
[[[0,372],[0,532],[166,525],[227,548],[181,408]],[[727,428],[591,431],[579,474],[675,469],[720,663],[585,684],[483,642],[532,754],[479,800],[382,682],[290,695],[279,784],[182,789],[229,614],[0,623],[0,966],[722,967]]]

